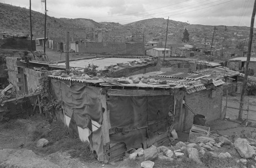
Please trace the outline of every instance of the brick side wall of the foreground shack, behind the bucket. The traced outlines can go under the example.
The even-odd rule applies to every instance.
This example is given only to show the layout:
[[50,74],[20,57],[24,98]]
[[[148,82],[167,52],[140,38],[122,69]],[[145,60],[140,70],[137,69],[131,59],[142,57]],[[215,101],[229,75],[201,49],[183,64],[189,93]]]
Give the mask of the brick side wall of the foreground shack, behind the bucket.
[[[206,116],[206,122],[214,121],[215,119],[219,119],[221,117],[223,94],[222,86],[217,87],[214,98],[211,98],[211,92],[212,89],[201,90],[196,93],[185,95],[186,104],[191,107],[195,113]],[[194,114],[186,107],[183,108],[185,108],[184,131],[189,131],[193,125]]]

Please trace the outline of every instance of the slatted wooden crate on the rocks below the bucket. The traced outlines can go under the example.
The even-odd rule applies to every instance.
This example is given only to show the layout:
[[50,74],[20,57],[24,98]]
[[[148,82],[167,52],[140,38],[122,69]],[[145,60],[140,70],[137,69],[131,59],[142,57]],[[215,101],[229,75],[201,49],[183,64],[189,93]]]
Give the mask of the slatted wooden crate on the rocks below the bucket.
[[209,133],[210,133],[210,127],[193,124],[189,131],[188,141],[194,143],[197,137],[199,136],[209,137]]

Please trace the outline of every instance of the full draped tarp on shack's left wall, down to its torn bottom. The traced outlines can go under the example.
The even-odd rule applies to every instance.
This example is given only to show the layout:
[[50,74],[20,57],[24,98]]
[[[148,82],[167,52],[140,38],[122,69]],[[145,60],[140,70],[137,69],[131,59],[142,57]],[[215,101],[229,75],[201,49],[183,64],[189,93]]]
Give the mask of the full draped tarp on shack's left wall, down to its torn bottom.
[[[101,89],[90,86],[69,86],[65,82],[51,79],[52,94],[63,101],[63,111],[69,116],[69,131],[72,137],[79,137],[78,127],[89,129],[91,148],[96,151],[98,160],[103,161],[101,128],[93,131],[91,119],[102,124]],[[78,127],[77,127],[78,126]]]

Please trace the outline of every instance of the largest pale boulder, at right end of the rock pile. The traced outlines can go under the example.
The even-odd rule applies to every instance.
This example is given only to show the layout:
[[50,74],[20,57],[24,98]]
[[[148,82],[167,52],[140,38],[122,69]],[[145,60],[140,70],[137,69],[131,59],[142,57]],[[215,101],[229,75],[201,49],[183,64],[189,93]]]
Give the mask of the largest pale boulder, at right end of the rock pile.
[[234,148],[236,148],[240,156],[245,159],[250,159],[253,155],[256,155],[253,148],[249,145],[247,139],[244,138],[237,138],[234,141]]

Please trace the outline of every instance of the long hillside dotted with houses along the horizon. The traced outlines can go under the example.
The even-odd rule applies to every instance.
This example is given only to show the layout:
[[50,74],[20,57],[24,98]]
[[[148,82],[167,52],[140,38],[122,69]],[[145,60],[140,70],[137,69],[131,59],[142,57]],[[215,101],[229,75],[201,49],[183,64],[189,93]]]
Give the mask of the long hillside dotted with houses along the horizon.
[[[30,34],[29,9],[20,8],[0,3],[0,32],[11,35]],[[44,36],[45,15],[32,11],[32,25],[34,38]],[[47,17],[47,31],[52,39],[64,41],[66,31],[74,39],[92,39],[96,29],[107,29],[108,40],[125,39],[126,36],[134,35],[137,41],[164,41],[166,34],[167,19],[151,18],[120,25],[115,22],[96,22],[84,18],[55,18]],[[200,43],[203,39],[211,40],[214,26],[190,25],[186,22],[169,20],[167,42],[181,41],[184,29],[189,32],[189,43]],[[239,36],[238,36],[238,35]],[[215,42],[224,45],[236,46],[237,43],[247,38],[248,27],[225,27],[216,26]],[[119,40],[120,41],[120,40]]]

